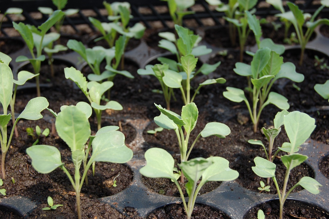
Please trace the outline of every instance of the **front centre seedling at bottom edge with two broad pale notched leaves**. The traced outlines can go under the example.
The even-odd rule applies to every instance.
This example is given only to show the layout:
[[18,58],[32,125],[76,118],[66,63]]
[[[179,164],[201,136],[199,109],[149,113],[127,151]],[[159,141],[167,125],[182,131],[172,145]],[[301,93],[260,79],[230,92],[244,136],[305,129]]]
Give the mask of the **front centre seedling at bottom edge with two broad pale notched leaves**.
[[[208,157],[207,159],[198,157],[189,161],[182,161],[178,166],[188,179],[185,184],[189,195],[189,201],[186,203],[183,191],[177,181],[179,174],[174,173],[174,159],[172,156],[160,148],[150,148],[144,154],[146,166],[140,168],[141,175],[150,178],[169,178],[178,188],[181,195],[186,216],[191,218],[192,210],[196,197],[201,187],[208,181],[230,181],[238,178],[239,173],[229,168],[229,161],[222,157]],[[197,182],[201,181],[197,186]]]

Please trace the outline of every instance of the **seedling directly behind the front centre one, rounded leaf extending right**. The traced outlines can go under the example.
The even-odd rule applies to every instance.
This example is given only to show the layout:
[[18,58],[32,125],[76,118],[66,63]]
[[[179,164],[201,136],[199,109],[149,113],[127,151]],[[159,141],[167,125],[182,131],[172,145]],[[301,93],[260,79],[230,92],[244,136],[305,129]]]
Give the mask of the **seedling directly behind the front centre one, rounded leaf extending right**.
[[[215,135],[219,138],[225,138],[231,133],[230,128],[223,123],[207,123],[204,129],[195,138],[194,142],[190,146],[189,152],[187,153],[190,133],[196,125],[199,114],[195,103],[189,103],[183,106],[182,116],[162,108],[161,105],[155,104],[155,106],[160,110],[161,114],[160,116],[154,118],[154,122],[162,128],[173,129],[176,132],[179,150],[181,153],[181,162],[188,160],[189,155],[200,136],[206,138],[211,135]],[[185,129],[186,135],[184,135],[182,127]],[[181,175],[181,182],[184,182],[183,172]]]

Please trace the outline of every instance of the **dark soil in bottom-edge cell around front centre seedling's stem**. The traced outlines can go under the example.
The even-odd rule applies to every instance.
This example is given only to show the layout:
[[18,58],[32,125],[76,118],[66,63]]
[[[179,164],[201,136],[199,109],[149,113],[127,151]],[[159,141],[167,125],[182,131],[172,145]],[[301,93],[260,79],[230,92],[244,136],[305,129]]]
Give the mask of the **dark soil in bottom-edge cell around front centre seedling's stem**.
[[[147,219],[186,219],[183,204],[170,204],[156,209],[150,213]],[[212,209],[208,206],[194,205],[192,219],[229,219],[230,217],[220,210]]]

